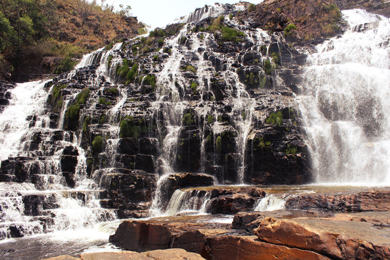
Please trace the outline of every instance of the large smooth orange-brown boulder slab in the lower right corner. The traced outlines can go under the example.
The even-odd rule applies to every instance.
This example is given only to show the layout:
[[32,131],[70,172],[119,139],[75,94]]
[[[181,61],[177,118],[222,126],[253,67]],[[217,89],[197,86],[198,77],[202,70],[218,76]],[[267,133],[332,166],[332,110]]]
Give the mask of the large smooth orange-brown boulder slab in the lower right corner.
[[332,218],[266,218],[254,230],[264,242],[310,250],[335,259],[362,260],[390,258],[389,231],[368,222]]

